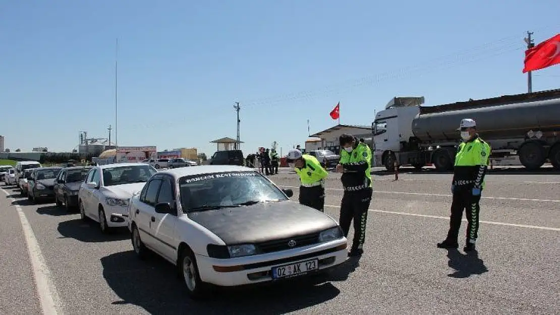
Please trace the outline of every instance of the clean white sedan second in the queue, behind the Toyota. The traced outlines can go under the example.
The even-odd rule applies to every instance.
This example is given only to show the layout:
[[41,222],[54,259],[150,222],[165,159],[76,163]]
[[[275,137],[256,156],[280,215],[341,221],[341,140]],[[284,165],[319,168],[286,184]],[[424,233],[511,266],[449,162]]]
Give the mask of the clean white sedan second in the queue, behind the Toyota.
[[78,191],[82,220],[99,222],[101,232],[128,226],[128,201],[157,173],[143,163],[114,163],[93,167]]

